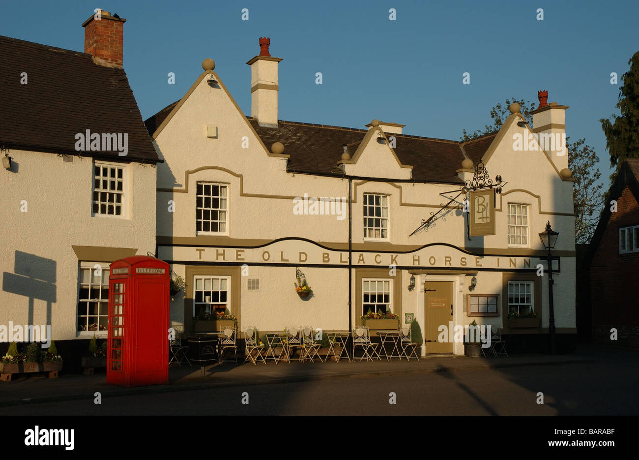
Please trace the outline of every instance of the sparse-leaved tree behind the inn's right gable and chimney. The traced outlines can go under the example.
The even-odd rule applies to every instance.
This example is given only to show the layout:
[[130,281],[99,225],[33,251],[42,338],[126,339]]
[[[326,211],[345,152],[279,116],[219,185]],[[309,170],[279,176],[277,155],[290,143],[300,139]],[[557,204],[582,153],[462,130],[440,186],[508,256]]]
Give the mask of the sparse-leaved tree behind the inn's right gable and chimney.
[[[520,104],[521,115],[524,116],[526,122],[532,128],[532,115],[530,115],[530,112],[535,109],[535,104],[531,104],[530,101],[525,102],[523,99],[517,100],[516,98],[512,98],[512,102]],[[511,101],[509,99],[506,99],[505,106],[497,104],[490,111],[493,123],[486,125],[484,131],[475,131],[470,136],[466,133],[466,130],[463,130],[461,140],[467,141],[484,134],[499,131],[506,118],[510,115],[508,110],[510,105]],[[601,178],[599,168],[596,168],[599,157],[595,150],[585,143],[585,139],[578,139],[574,143],[570,143],[569,139],[566,137],[568,168],[573,171],[574,178],[574,239],[577,243],[587,243],[590,241],[592,233],[597,226],[604,203],[601,197],[602,186],[596,183]]]

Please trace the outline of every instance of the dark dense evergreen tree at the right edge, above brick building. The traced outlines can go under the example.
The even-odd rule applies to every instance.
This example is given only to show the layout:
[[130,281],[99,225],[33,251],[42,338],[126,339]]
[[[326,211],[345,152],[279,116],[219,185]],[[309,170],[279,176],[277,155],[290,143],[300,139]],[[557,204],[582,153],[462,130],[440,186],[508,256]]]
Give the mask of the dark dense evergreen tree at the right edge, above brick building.
[[610,166],[617,166],[610,176],[615,181],[620,164],[626,158],[639,158],[639,51],[628,61],[629,70],[621,77],[619,101],[615,105],[621,115],[612,115],[612,122],[601,118],[601,129],[606,135],[606,150]]

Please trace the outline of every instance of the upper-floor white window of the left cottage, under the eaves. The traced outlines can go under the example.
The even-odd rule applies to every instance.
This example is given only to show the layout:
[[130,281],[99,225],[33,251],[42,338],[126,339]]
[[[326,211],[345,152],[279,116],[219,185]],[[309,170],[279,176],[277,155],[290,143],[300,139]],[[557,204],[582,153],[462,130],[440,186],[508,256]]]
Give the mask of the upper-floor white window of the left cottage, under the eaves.
[[93,168],[93,214],[122,216],[124,166],[95,163]]

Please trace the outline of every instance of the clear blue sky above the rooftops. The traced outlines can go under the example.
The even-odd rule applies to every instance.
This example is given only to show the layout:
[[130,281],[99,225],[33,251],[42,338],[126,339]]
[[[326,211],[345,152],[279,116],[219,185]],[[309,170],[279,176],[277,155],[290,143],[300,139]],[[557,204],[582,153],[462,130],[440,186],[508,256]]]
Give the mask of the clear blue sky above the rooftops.
[[[84,51],[94,8],[118,13],[124,67],[142,116],[180,99],[204,58],[245,114],[259,36],[279,66],[279,118],[364,127],[373,118],[406,134],[459,139],[518,97],[571,106],[567,135],[610,161],[599,118],[616,113],[619,78],[639,49],[639,2],[408,1],[0,1],[0,35]],[[242,8],[249,20],[241,20]],[[389,20],[395,8],[397,20]],[[537,20],[543,8],[544,20]],[[0,56],[1,62],[1,56]],[[48,69],[55,78],[56,70]],[[167,84],[168,72],[176,84]],[[315,84],[322,72],[323,84]],[[470,85],[462,84],[470,72]],[[96,93],[99,88],[96,88]],[[90,95],[87,95],[90,97]]]

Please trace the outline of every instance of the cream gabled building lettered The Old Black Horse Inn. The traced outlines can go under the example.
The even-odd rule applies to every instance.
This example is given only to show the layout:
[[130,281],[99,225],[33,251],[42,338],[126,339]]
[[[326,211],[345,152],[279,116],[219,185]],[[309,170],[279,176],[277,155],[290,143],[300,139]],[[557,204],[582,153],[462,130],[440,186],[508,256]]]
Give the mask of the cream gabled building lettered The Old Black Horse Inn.
[[[438,337],[472,321],[503,328],[509,351],[545,351],[538,234],[550,221],[559,232],[557,346],[573,349],[567,106],[547,104],[540,91],[534,128],[513,104],[500,131],[465,142],[378,120],[366,129],[279,120],[282,59],[270,56],[268,38],[259,44],[247,62],[250,116],[205,59],[184,97],[146,120],[164,161],[156,255],[187,283],[172,299],[174,326],[189,331],[228,309],[239,329],[261,333],[348,330],[369,311],[390,311],[402,324],[414,319],[422,354],[464,353],[463,343]],[[296,292],[300,280],[311,295]]]

